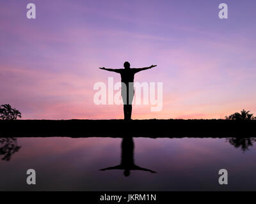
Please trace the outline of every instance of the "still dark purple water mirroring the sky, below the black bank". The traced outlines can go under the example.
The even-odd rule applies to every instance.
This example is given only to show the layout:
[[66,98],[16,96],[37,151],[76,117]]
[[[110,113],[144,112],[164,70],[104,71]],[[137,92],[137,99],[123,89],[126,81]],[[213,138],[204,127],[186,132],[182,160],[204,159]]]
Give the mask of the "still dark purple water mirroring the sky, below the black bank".
[[[0,191],[255,191],[253,142],[255,138],[0,138]],[[26,184],[30,168],[36,171],[35,186]],[[223,168],[228,185],[221,186],[218,171]]]

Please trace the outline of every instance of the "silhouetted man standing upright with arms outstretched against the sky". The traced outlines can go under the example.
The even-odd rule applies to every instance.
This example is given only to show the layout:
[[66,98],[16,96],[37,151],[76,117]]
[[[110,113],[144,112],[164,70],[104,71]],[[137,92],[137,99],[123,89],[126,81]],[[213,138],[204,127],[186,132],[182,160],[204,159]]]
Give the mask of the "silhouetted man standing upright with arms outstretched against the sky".
[[124,69],[106,69],[100,68],[107,71],[114,71],[120,73],[122,82],[122,99],[124,103],[124,119],[131,120],[132,115],[132,100],[134,96],[134,75],[139,71],[154,68],[156,65],[151,65],[147,68],[130,68],[129,62],[124,62]]

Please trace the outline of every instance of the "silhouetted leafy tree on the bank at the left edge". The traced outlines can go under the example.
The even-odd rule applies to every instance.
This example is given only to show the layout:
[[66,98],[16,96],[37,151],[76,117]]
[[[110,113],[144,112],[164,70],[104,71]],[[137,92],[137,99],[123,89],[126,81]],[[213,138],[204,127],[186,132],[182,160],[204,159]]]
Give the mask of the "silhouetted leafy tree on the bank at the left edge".
[[1,120],[17,120],[17,117],[21,118],[21,113],[19,110],[12,108],[10,104],[4,104],[0,106]]

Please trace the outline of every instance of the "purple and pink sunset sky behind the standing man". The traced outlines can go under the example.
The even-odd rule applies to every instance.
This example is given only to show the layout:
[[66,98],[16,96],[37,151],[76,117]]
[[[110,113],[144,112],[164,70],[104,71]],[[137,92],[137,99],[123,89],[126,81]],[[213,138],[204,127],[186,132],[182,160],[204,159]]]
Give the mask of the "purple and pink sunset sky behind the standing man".
[[122,105],[95,105],[93,85],[119,82],[99,67],[129,61],[157,64],[135,82],[163,82],[163,109],[134,105],[132,119],[256,113],[255,9],[254,0],[0,1],[0,105],[22,119],[122,119]]

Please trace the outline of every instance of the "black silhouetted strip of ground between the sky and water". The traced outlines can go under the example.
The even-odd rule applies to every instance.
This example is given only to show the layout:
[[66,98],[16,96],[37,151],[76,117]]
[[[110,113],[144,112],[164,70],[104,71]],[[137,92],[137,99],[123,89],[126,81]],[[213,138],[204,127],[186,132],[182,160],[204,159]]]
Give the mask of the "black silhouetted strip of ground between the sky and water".
[[256,120],[0,120],[0,137],[254,137]]

